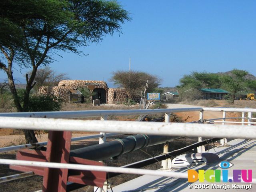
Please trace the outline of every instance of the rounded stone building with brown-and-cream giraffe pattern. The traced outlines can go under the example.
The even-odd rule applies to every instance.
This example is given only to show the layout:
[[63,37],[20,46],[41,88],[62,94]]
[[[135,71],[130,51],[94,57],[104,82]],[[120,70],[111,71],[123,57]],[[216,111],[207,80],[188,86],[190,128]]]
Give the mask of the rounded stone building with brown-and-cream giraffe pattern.
[[78,88],[88,88],[93,92],[92,100],[99,99],[102,104],[117,104],[125,102],[128,97],[122,88],[108,88],[104,81],[92,80],[62,80],[58,86],[54,86],[51,91],[47,87],[38,88],[39,94],[46,94],[47,92],[63,98],[66,102],[70,101],[70,91]]

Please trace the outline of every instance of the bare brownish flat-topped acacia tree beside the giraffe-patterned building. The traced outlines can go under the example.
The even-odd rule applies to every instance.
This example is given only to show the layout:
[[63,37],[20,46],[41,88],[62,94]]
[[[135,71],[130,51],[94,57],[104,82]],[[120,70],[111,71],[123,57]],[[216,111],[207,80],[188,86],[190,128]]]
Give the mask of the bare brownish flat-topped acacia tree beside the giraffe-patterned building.
[[139,71],[116,71],[112,72],[112,78],[110,79],[115,85],[120,88],[124,88],[129,100],[136,96],[142,96],[142,90],[146,86],[148,80],[147,91],[151,91],[160,85],[161,79],[157,76],[139,72]]

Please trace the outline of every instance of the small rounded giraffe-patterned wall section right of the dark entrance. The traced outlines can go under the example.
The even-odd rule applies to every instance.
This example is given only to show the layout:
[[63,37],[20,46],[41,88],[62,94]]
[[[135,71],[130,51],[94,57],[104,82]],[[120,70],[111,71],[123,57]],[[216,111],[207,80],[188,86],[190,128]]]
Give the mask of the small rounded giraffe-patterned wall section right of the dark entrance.
[[108,104],[124,103],[128,95],[121,88],[108,89]]

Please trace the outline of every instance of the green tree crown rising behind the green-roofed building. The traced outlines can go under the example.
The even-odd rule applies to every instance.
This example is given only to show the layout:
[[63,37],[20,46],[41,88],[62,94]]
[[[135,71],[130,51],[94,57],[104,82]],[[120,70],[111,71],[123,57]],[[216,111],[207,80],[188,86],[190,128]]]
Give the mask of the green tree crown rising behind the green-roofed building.
[[180,87],[186,88],[220,88],[220,76],[208,72],[192,72],[180,79]]

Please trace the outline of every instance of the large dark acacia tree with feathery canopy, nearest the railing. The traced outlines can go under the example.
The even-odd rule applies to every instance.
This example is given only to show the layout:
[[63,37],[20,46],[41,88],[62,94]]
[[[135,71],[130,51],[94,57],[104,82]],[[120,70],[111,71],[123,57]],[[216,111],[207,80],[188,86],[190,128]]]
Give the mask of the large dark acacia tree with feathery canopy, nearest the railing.
[[[130,20],[115,1],[105,0],[2,0],[0,6],[0,69],[6,72],[18,112],[29,110],[29,93],[40,65],[51,63],[58,51],[82,55],[78,47],[98,43],[107,34],[121,32]],[[12,74],[13,64],[32,68],[26,74],[26,90],[19,100]],[[24,130],[26,142],[37,142]]]

